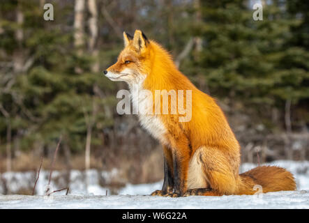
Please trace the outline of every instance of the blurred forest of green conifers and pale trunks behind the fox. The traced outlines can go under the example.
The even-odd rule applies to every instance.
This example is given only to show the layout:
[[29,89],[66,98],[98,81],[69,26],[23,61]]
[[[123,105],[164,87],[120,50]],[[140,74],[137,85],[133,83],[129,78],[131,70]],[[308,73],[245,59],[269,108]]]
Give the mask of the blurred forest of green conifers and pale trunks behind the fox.
[[[43,6],[52,3],[54,20]],[[253,20],[262,3],[263,20]],[[163,178],[160,145],[137,117],[116,113],[102,71],[144,31],[218,100],[242,162],[309,160],[309,2],[306,0],[1,0],[0,172],[121,172],[121,182]],[[119,182],[116,182],[116,184]]]

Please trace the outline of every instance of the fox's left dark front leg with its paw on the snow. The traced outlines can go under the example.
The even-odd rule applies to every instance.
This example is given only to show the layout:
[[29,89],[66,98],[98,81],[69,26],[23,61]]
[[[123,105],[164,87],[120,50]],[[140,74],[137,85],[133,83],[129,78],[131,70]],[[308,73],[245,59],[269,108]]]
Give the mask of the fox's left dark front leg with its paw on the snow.
[[164,149],[164,181],[162,190],[156,190],[152,192],[152,196],[165,196],[172,193],[174,190],[174,178],[173,178],[173,162],[172,152],[169,148],[163,146]]

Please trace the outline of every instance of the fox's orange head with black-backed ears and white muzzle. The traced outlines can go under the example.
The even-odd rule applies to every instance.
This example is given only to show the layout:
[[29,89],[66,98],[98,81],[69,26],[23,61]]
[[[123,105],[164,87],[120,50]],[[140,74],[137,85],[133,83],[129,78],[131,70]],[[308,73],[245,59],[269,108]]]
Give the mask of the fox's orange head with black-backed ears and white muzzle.
[[104,70],[104,74],[114,82],[134,84],[151,70],[151,42],[140,30],[136,30],[134,36],[123,32],[123,40],[125,47],[117,62]]

